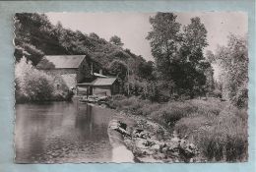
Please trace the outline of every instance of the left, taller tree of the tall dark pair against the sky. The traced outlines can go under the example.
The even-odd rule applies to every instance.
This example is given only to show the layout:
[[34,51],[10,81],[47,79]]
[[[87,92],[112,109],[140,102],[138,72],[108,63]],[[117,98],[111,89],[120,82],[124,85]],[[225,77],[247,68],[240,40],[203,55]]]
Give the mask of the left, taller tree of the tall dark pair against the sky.
[[177,49],[181,40],[180,24],[176,22],[173,13],[158,13],[150,18],[152,31],[147,39],[151,42],[152,54],[160,73],[170,80],[170,70],[173,60],[177,58]]

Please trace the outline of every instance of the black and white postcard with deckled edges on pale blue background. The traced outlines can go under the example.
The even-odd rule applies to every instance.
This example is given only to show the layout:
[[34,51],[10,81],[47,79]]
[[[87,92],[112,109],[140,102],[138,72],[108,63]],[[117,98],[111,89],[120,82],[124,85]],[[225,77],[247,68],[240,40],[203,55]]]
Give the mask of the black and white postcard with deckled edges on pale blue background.
[[242,12],[16,13],[15,162],[248,161]]

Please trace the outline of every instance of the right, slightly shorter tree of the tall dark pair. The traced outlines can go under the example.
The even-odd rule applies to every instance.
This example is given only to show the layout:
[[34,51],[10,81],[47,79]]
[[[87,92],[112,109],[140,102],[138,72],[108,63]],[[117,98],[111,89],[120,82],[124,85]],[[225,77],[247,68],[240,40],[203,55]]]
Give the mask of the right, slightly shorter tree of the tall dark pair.
[[[179,49],[180,61],[183,70],[183,79],[186,81],[180,83],[181,87],[188,88],[190,95],[202,94],[206,91],[205,85],[212,67],[206,61],[203,50],[208,45],[207,30],[200,18],[192,18],[190,24],[183,28],[181,47]],[[209,72],[207,72],[209,71]],[[206,76],[207,74],[207,76]],[[180,86],[179,84],[179,86]]]

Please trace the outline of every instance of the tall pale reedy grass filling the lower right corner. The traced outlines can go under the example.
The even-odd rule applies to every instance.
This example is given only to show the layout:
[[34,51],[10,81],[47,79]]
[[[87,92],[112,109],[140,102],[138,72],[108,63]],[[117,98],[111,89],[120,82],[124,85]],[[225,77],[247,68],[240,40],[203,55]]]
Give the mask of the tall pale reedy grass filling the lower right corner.
[[208,110],[182,118],[175,124],[174,129],[182,137],[189,136],[191,142],[198,145],[208,160],[247,160],[246,111],[227,106],[219,115],[209,115]]

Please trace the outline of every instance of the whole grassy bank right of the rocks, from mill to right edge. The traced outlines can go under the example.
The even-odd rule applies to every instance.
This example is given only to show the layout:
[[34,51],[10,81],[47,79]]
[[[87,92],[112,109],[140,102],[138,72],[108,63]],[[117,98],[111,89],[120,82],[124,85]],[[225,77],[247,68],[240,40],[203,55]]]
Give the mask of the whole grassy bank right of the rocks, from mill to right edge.
[[217,98],[152,103],[138,97],[113,96],[109,105],[143,115],[187,138],[210,161],[247,160],[247,112]]

